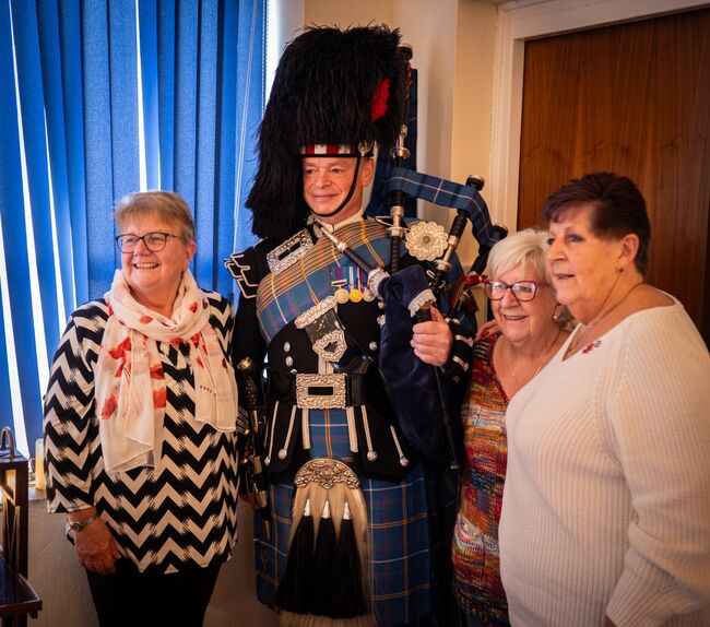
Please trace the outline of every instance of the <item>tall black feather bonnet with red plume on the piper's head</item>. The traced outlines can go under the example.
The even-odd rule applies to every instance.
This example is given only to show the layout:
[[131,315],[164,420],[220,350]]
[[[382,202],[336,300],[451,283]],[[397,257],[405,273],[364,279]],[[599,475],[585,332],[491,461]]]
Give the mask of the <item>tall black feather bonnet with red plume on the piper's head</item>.
[[259,168],[246,202],[255,235],[282,241],[303,228],[304,145],[395,142],[407,58],[399,43],[387,26],[313,26],[288,44],[259,127]]

